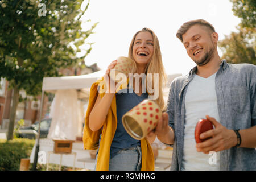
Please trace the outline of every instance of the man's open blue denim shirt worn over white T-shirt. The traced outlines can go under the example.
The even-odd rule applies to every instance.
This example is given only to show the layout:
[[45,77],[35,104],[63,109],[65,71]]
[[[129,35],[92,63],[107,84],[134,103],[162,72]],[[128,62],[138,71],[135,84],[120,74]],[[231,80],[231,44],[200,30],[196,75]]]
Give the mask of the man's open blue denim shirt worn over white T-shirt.
[[[184,142],[185,95],[197,67],[172,81],[167,102],[169,125],[175,131],[171,170],[181,170]],[[227,129],[256,125],[256,66],[222,60],[215,78],[218,113]],[[256,170],[256,150],[235,148],[220,152],[220,170]]]

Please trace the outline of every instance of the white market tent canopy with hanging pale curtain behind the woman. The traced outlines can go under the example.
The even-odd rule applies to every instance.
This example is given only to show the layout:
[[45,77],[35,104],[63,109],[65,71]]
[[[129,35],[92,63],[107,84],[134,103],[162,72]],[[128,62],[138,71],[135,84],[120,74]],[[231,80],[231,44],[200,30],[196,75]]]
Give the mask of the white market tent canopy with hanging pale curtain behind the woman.
[[44,77],[42,90],[55,93],[49,117],[52,118],[47,138],[75,140],[82,135],[83,105],[89,89],[104,71],[80,76]]

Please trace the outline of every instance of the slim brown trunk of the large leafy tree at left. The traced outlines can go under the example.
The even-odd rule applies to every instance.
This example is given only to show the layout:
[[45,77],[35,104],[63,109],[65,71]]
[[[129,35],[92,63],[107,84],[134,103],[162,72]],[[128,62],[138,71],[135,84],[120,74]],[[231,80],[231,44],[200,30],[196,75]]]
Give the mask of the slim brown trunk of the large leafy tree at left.
[[15,118],[16,118],[16,110],[17,110],[17,106],[19,104],[19,88],[18,88],[18,86],[15,86],[13,91],[14,91],[13,92],[13,101],[12,101],[11,111],[10,111],[10,119],[9,119],[7,140],[12,140],[13,139],[13,131],[14,131]]

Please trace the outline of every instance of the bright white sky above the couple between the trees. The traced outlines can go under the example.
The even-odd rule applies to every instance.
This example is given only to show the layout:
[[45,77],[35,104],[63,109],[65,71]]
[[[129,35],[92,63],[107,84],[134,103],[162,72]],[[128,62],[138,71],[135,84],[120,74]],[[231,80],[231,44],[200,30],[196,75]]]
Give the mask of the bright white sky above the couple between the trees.
[[[88,30],[96,22],[98,25],[86,39],[94,44],[85,64],[97,63],[106,70],[117,57],[128,56],[133,35],[148,27],[158,36],[166,73],[186,75],[196,64],[176,38],[176,32],[184,22],[194,19],[213,24],[219,40],[237,31],[236,26],[241,22],[233,15],[229,0],[91,0],[82,18],[82,30]],[[219,54],[222,55],[220,50]]]

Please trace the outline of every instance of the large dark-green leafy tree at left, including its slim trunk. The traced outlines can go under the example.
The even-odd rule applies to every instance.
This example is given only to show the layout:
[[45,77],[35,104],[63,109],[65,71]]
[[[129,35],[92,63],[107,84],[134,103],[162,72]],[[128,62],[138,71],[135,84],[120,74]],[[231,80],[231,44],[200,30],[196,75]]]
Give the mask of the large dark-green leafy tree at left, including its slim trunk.
[[[45,76],[59,76],[60,68],[80,64],[92,49],[79,46],[93,33],[97,23],[82,31],[82,0],[0,1],[0,77],[13,88],[7,140],[13,139],[19,90],[41,93]],[[89,20],[88,20],[89,22]],[[77,57],[77,52],[85,51]]]

